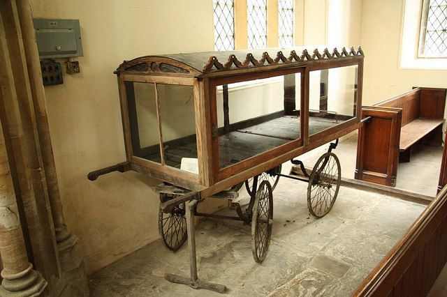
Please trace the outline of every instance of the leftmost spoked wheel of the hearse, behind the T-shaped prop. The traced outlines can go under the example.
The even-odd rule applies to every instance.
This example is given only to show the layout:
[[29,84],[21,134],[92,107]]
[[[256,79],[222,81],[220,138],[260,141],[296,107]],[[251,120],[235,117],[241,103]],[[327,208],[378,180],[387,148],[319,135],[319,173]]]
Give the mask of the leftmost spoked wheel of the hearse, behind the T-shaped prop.
[[[161,203],[174,199],[177,195],[160,194]],[[159,234],[163,244],[169,250],[176,252],[188,238],[186,232],[186,212],[185,204],[175,206],[170,213],[163,213],[159,210]]]

